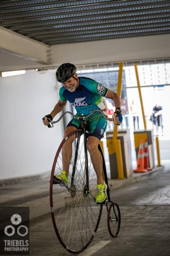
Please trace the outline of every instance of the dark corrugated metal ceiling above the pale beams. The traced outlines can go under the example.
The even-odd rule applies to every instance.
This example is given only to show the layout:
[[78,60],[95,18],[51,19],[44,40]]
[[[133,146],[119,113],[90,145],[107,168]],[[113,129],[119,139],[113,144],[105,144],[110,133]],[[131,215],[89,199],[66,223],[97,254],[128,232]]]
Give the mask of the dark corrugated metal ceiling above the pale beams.
[[4,0],[0,26],[64,44],[170,33],[170,1]]

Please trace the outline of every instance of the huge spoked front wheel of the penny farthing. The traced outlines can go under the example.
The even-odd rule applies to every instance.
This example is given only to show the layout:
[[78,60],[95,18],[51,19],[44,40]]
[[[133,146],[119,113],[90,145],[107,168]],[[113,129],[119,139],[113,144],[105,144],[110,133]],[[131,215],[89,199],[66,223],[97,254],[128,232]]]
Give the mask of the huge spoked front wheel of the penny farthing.
[[[68,140],[72,143],[72,156],[69,165],[68,186],[53,184],[54,174],[62,171],[62,155],[66,151]],[[74,141],[75,141],[74,140]],[[64,151],[63,151],[64,150]],[[75,151],[74,151],[75,150]],[[78,152],[77,163],[74,162],[75,152]],[[54,158],[50,178],[51,218],[55,233],[62,246],[70,253],[80,253],[94,239],[102,215],[102,204],[95,203],[96,173],[94,172],[88,153],[89,191],[85,191],[85,153],[84,135],[82,130],[70,132],[61,142]],[[72,170],[76,166],[76,172]],[[74,177],[73,177],[74,176]]]

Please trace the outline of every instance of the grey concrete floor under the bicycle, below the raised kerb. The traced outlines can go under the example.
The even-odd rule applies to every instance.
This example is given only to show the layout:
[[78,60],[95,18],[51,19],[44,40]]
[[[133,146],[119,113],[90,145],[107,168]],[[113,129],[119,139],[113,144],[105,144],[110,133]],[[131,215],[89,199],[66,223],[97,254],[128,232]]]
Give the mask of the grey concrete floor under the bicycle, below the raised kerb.
[[[169,256],[170,169],[148,180],[111,192],[121,210],[121,229],[112,238],[104,207],[99,229],[81,256]],[[107,245],[105,245],[107,242]],[[31,221],[31,256],[71,255],[59,244],[49,214]]]

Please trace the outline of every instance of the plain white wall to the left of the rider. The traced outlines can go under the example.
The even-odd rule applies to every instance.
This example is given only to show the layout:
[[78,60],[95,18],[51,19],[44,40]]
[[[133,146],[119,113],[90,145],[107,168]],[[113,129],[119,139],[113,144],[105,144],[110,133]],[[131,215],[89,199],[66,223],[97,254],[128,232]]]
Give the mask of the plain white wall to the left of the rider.
[[62,122],[47,128],[42,117],[57,101],[54,71],[0,77],[0,179],[51,170]]

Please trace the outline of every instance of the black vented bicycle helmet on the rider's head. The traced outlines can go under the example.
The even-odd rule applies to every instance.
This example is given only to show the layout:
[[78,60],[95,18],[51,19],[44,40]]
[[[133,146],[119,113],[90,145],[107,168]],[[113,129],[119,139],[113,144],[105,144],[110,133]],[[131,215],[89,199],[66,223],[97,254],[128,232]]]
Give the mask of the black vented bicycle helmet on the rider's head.
[[74,76],[76,71],[77,68],[74,66],[74,64],[63,63],[56,71],[57,81],[59,81],[60,83],[65,82],[66,80],[71,78],[71,76]]

